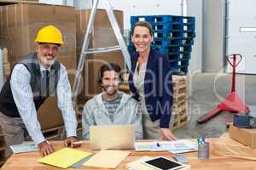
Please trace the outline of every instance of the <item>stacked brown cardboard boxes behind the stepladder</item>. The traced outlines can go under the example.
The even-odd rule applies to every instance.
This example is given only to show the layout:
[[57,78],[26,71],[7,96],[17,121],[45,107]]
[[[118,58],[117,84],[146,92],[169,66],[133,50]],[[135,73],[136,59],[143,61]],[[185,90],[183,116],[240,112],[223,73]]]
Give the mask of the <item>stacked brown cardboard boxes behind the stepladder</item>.
[[[119,24],[119,28],[123,30],[123,12],[114,10],[114,14]],[[88,21],[90,18],[90,9],[77,10],[77,59],[81,54],[81,48],[84,42],[84,35]],[[105,10],[98,9],[96,12],[96,19],[93,25],[93,30],[90,37],[89,48],[104,48],[117,45],[118,42],[114,36],[114,32],[108,15]],[[109,52],[102,54],[90,54],[86,56],[84,64],[84,71],[82,73],[83,79],[79,90],[79,105],[83,108],[84,103],[92,98],[94,95],[101,93],[102,89],[96,82],[97,71],[101,65],[113,62],[124,66],[124,57],[121,51]]]

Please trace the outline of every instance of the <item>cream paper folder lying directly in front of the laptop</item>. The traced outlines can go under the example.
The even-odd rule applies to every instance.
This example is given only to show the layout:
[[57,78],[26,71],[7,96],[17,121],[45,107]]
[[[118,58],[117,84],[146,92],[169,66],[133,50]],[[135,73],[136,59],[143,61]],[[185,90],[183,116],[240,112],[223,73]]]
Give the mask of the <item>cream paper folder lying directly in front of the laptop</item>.
[[83,165],[87,167],[116,168],[129,154],[130,151],[101,150]]

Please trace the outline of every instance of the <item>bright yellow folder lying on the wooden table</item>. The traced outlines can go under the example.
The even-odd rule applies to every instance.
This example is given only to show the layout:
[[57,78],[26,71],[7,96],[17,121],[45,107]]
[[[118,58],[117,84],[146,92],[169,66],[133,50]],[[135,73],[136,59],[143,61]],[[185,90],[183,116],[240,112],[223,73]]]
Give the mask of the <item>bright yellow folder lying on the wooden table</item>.
[[90,155],[90,152],[84,152],[82,150],[76,150],[72,148],[63,148],[61,150],[55,151],[49,156],[45,156],[39,159],[38,161],[41,163],[53,165],[55,167],[67,168]]

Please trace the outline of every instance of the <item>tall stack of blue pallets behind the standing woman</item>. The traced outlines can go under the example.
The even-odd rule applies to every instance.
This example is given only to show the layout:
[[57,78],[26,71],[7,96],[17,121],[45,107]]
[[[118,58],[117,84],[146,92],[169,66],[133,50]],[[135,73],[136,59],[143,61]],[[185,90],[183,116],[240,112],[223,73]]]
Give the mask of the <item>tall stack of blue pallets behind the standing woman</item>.
[[[153,27],[154,42],[152,47],[168,57],[172,72],[177,75],[187,74],[195,37],[195,17],[131,16],[131,27],[141,20],[148,21]],[[132,47],[133,43],[130,42],[130,48]]]

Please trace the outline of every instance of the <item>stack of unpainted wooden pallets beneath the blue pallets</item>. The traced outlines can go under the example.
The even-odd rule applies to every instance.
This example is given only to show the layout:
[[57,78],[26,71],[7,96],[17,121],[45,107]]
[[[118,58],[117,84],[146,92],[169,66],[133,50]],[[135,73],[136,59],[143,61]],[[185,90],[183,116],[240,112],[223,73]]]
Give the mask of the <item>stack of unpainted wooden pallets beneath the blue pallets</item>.
[[189,105],[187,98],[187,78],[185,76],[172,76],[173,105],[172,105],[172,129],[182,127],[189,122]]

